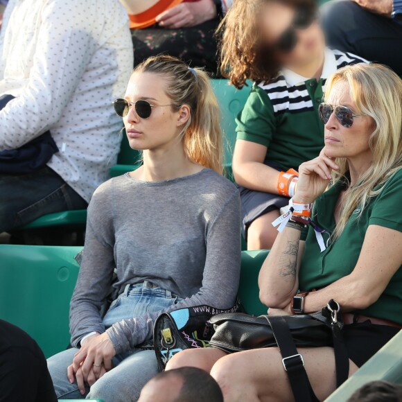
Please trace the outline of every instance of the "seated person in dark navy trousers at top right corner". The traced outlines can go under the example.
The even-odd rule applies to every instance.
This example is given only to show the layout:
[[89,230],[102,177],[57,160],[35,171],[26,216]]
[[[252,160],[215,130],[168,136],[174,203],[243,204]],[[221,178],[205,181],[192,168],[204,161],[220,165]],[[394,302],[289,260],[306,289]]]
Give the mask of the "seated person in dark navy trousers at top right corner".
[[322,26],[329,46],[402,76],[402,0],[329,1],[322,7]]

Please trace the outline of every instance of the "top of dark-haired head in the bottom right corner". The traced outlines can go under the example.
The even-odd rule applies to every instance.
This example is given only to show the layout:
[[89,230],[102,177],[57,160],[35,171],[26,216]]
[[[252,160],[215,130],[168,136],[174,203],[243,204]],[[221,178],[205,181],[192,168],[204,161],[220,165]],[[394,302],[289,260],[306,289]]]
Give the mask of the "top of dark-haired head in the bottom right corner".
[[402,402],[402,385],[372,381],[353,392],[347,402]]

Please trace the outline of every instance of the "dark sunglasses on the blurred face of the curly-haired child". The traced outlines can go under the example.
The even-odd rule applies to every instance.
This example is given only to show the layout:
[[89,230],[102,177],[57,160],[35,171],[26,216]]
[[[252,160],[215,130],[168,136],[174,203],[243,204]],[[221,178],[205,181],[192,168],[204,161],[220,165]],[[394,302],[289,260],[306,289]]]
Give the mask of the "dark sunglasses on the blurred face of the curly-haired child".
[[292,24],[290,24],[290,27],[281,34],[274,46],[277,51],[290,53],[295,49],[297,42],[299,41],[296,30],[307,29],[311,24],[313,24],[313,21],[315,21],[316,18],[317,14],[314,8],[297,8]]

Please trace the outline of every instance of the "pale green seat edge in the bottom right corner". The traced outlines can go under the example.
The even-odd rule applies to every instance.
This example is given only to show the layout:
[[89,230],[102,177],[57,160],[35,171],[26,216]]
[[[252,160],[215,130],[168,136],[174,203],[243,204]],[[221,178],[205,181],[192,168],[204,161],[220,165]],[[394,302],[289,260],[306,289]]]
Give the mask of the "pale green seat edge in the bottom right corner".
[[326,402],[347,401],[351,394],[370,381],[402,385],[402,331],[383,346],[365,365],[338,388]]

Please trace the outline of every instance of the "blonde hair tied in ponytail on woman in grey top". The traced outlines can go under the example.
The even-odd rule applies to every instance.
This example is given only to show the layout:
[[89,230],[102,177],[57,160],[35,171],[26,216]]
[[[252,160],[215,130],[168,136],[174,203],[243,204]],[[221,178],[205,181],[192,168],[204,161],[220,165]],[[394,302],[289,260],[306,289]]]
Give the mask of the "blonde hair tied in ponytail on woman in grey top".
[[135,73],[157,73],[168,80],[166,95],[176,112],[189,105],[191,116],[182,130],[187,157],[222,174],[222,131],[220,109],[208,74],[169,55],[148,58],[134,69]]

